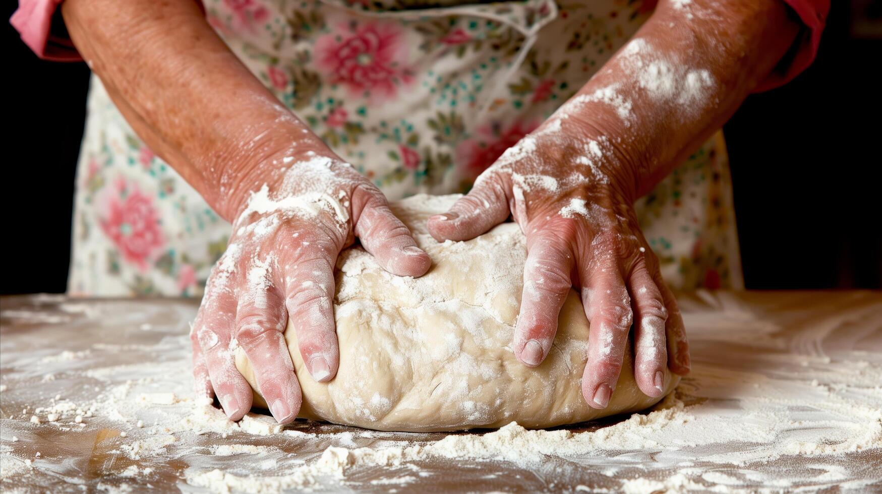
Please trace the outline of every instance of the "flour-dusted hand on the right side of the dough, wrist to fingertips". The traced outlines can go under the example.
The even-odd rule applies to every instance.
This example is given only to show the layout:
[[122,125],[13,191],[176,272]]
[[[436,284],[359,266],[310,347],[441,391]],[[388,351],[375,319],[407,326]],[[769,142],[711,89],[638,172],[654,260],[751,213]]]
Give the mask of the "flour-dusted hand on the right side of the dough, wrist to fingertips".
[[660,396],[668,366],[685,374],[690,360],[683,318],[632,207],[630,168],[593,128],[553,116],[449,212],[431,217],[429,230],[438,241],[467,240],[512,214],[527,236],[515,356],[531,367],[542,363],[567,293],[580,288],[591,323],[582,393],[591,407],[605,408],[632,322],[634,376],[643,393]]

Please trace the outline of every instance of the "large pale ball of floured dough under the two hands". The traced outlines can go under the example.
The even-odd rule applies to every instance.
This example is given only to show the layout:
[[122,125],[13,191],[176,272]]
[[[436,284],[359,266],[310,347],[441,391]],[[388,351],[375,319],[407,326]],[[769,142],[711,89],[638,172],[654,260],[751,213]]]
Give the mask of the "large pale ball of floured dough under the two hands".
[[[609,407],[582,398],[588,322],[575,291],[560,313],[548,358],[536,368],[512,353],[527,256],[518,225],[504,223],[468,242],[437,243],[426,229],[458,196],[419,195],[392,204],[433,264],[421,278],[393,276],[360,246],[337,264],[334,311],[340,370],[315,382],[289,322],[285,337],[303,387],[301,417],[377,430],[528,428],[579,423],[633,412],[660,399],[639,391],[631,348]],[[258,389],[244,352],[236,366]],[[666,372],[667,394],[679,378]],[[255,393],[255,405],[265,401]]]

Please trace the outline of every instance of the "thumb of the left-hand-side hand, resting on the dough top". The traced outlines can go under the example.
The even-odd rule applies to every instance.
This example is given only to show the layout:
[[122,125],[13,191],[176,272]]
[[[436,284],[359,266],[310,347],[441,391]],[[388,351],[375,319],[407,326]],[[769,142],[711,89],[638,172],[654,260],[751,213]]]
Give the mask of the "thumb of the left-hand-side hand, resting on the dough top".
[[355,235],[380,266],[401,276],[422,276],[429,271],[429,254],[416,246],[410,230],[392,213],[380,191],[359,189],[353,201],[361,206]]

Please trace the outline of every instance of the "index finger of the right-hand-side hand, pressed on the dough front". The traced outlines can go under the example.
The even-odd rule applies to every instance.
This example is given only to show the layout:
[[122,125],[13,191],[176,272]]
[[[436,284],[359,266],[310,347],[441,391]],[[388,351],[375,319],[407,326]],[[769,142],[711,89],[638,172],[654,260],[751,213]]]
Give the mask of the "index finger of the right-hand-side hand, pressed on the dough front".
[[527,263],[514,355],[525,365],[542,363],[557,333],[557,317],[572,287],[572,252],[561,232],[542,230],[527,238]]

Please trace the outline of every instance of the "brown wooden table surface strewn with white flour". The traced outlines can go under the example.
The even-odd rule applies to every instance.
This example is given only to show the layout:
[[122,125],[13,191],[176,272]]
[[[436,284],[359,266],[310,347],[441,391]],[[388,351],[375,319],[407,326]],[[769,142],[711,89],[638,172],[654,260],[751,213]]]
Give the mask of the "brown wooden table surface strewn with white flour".
[[642,414],[658,430],[642,432],[627,416],[565,428],[624,431],[639,447],[340,472],[317,463],[329,446],[391,451],[448,434],[304,421],[277,431],[260,417],[250,430],[230,426],[191,393],[197,301],[4,297],[0,489],[882,491],[882,293],[679,300],[693,368],[666,403],[680,408]]

